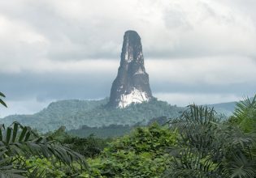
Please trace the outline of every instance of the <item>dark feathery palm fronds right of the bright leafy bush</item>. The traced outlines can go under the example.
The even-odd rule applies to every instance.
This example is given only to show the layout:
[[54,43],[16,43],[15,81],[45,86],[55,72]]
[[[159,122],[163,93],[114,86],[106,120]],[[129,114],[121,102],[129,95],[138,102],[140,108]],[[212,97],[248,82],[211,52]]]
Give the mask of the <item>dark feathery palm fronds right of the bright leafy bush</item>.
[[180,138],[170,151],[174,161],[167,176],[254,177],[253,138],[219,121],[213,108],[193,104],[172,122]]

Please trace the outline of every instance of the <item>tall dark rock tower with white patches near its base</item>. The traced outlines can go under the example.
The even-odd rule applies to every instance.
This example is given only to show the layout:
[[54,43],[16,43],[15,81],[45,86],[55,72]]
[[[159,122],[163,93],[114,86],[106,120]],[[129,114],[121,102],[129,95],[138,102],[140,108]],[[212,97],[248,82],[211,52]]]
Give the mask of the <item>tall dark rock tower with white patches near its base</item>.
[[141,38],[135,31],[124,34],[124,43],[117,77],[111,87],[109,105],[125,108],[152,98],[149,74],[145,72]]

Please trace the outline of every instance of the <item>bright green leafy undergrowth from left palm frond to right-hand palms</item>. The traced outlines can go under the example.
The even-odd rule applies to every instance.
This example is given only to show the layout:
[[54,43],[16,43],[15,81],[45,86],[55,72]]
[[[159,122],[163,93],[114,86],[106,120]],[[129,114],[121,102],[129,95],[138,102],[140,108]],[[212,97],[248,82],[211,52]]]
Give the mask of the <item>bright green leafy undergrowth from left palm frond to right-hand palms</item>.
[[[104,142],[100,155],[86,154],[88,169],[79,175],[74,168],[49,159],[32,157],[26,163],[31,172],[37,168],[42,177],[161,177],[171,162],[167,150],[176,145],[177,137],[176,131],[158,124],[134,129],[122,138],[108,140],[107,146]],[[72,167],[80,170],[79,164]]]

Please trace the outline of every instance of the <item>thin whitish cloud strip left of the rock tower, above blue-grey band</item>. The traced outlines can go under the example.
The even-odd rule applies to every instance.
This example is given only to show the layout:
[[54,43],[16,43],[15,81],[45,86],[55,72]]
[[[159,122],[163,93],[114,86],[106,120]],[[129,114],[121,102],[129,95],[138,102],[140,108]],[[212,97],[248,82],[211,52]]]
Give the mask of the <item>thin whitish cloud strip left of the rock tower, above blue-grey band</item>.
[[116,71],[119,66],[117,60],[104,59],[86,59],[86,60],[69,60],[69,61],[53,61],[49,59],[37,59],[29,63],[23,61],[6,61],[2,65],[1,73],[19,74],[104,74]]

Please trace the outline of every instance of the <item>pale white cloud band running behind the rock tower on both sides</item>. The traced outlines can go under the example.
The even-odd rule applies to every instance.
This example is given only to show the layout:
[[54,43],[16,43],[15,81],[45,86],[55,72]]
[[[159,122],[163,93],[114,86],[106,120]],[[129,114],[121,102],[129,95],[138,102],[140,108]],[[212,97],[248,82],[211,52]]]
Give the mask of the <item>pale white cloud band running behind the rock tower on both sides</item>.
[[[34,74],[117,74],[119,60],[86,59],[72,61],[51,61],[39,59],[30,63],[2,65],[1,73]],[[145,59],[145,69],[150,81],[180,83],[186,85],[209,84],[228,86],[239,83],[256,83],[256,62],[249,57],[199,57],[184,59]]]

